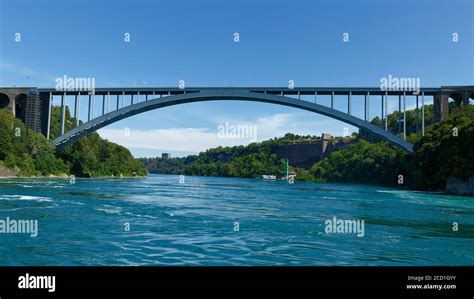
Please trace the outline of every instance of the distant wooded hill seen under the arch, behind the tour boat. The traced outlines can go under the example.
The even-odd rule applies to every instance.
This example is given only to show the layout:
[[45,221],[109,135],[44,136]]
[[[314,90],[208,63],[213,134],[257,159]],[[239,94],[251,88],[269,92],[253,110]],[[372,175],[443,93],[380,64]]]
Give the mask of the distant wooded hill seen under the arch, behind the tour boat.
[[286,159],[297,179],[307,179],[309,168],[330,152],[343,148],[351,138],[323,140],[316,136],[287,133],[247,146],[216,147],[185,158],[141,158],[150,173],[258,178],[263,174],[282,177]]

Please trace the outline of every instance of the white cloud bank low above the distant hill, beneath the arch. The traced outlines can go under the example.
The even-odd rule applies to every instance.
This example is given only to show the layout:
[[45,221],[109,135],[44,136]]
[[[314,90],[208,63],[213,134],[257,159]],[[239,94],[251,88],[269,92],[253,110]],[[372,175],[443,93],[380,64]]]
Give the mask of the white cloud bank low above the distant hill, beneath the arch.
[[[233,125],[252,125],[257,127],[257,141],[281,137],[288,132],[303,135],[319,135],[322,132],[343,135],[343,129],[353,127],[330,118],[304,113],[279,113],[257,118],[255,121],[228,121],[220,119],[215,128],[168,128],[168,129],[126,129],[104,128],[98,131],[103,137],[127,148],[166,150],[182,152],[202,152],[217,146],[247,145],[254,139],[218,138],[217,126],[225,122]],[[128,135],[128,136],[127,136]]]

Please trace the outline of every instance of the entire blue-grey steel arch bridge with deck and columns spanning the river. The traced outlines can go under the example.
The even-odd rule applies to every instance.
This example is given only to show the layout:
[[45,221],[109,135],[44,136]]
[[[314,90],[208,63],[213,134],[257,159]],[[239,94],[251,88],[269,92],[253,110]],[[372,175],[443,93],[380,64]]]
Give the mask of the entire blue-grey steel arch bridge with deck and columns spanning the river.
[[[28,91],[29,90],[29,91]],[[352,126],[358,127],[374,136],[386,140],[394,146],[413,153],[413,145],[406,141],[406,99],[416,99],[416,133],[424,135],[425,129],[425,97],[430,97],[434,104],[435,120],[440,121],[448,116],[448,102],[453,99],[457,103],[469,104],[474,99],[474,86],[455,86],[441,88],[421,88],[413,91],[384,91],[380,88],[367,87],[204,87],[204,88],[98,88],[93,92],[77,90],[56,90],[38,88],[32,92],[30,88],[0,88],[0,108],[6,107],[15,114],[15,102],[18,96],[28,92],[28,101],[24,119],[27,126],[42,132],[48,138],[51,128],[51,109],[54,97],[61,99],[60,136],[54,139],[58,150],[73,143],[81,137],[122,119],[147,111],[182,105],[193,102],[238,100],[283,105],[322,114]],[[74,97],[74,128],[65,132],[67,98]],[[335,109],[335,102],[340,106],[340,97],[344,97],[344,111]],[[363,97],[363,118],[353,115],[353,97]],[[388,130],[388,97],[398,99],[398,129],[400,137]],[[329,99],[329,105],[322,105],[320,99]],[[18,98],[18,99],[17,99]],[[308,100],[309,98],[309,100]],[[337,98],[337,100],[336,100]],[[12,101],[13,99],[13,101]],[[81,101],[86,101],[87,120],[80,120]],[[99,103],[97,103],[99,101]],[[318,102],[319,101],[319,102]],[[381,112],[382,124],[376,126],[370,122],[370,107],[377,101]],[[101,103],[100,103],[101,102]],[[129,104],[128,104],[128,103]],[[101,108],[95,113],[99,104]],[[358,107],[360,104],[358,104]],[[71,109],[72,110],[72,109]],[[36,113],[35,113],[36,112]],[[419,113],[420,112],[420,113]],[[18,116],[18,115],[17,115]],[[420,118],[420,119],[418,119]],[[420,126],[419,126],[420,124]]]

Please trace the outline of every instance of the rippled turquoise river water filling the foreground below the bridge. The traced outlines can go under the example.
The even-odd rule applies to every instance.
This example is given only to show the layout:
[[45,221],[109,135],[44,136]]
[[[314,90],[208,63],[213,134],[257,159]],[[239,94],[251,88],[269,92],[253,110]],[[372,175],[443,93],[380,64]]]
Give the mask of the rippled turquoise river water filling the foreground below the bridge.
[[[374,186],[3,179],[6,217],[39,228],[1,233],[1,265],[474,265],[474,198]],[[332,217],[364,220],[364,236],[327,234]]]

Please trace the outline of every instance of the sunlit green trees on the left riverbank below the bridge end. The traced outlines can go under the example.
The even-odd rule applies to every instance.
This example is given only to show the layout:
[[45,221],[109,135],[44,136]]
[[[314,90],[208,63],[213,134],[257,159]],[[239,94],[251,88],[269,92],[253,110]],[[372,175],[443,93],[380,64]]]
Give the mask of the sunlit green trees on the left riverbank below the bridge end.
[[[51,139],[59,135],[59,107],[52,109]],[[66,111],[66,129],[74,119]],[[143,176],[146,169],[130,151],[92,133],[61,152],[51,140],[27,129],[10,111],[0,110],[0,165],[18,176]],[[7,171],[5,171],[7,173]],[[11,172],[8,172],[11,174]]]

